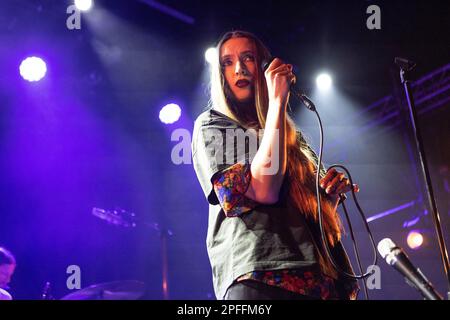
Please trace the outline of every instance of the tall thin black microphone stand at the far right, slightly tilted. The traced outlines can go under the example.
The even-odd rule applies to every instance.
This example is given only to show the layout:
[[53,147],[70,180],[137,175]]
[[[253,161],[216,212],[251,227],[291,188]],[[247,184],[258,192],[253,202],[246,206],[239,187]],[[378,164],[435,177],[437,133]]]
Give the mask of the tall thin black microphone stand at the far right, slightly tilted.
[[421,164],[421,168],[422,168],[422,173],[423,173],[423,175],[425,177],[425,181],[426,181],[425,187],[426,187],[427,196],[428,196],[428,203],[431,208],[431,215],[433,216],[434,226],[435,226],[438,243],[439,243],[440,254],[441,254],[441,258],[442,258],[442,264],[444,266],[444,272],[445,272],[445,275],[447,276],[447,285],[448,285],[447,299],[450,300],[450,273],[449,273],[450,268],[449,268],[448,252],[447,252],[447,247],[445,245],[444,236],[443,236],[443,232],[442,232],[440,215],[437,210],[436,200],[434,198],[433,187],[431,185],[431,178],[430,178],[430,173],[428,171],[427,159],[425,157],[425,149],[423,146],[424,144],[423,144],[422,135],[421,135],[420,128],[419,128],[419,121],[417,121],[416,106],[414,103],[414,97],[411,92],[411,84],[408,79],[408,75],[409,75],[408,72],[411,71],[416,66],[416,63],[414,63],[412,61],[408,61],[403,58],[395,58],[395,63],[400,67],[400,80],[404,86],[405,93],[406,93],[406,99],[408,101],[408,107],[409,107],[410,116],[411,116],[411,123],[412,123],[413,130],[414,130],[417,150],[419,151],[419,159],[420,159],[420,164]]

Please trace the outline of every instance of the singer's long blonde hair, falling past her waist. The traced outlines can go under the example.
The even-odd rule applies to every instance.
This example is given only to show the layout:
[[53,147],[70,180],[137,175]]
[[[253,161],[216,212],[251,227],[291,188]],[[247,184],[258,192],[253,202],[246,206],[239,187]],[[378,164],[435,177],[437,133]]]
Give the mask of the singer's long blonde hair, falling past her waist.
[[[246,31],[230,31],[225,33],[216,46],[216,59],[211,65],[211,101],[210,106],[225,111],[228,116],[238,121],[244,128],[261,129],[265,127],[269,105],[266,79],[262,68],[256,68],[255,75],[255,109],[256,119],[249,119],[248,114],[242,114],[230,105],[227,96],[229,87],[220,64],[220,50],[222,45],[231,38],[247,38],[254,42],[256,47],[255,63],[261,66],[262,61],[268,61],[271,57],[269,50],[254,34]],[[224,112],[224,113],[225,113]],[[312,149],[294,121],[287,114],[287,177],[289,179],[288,201],[313,221],[318,221],[317,198],[315,192],[316,161]],[[321,171],[323,177],[324,172]],[[322,212],[324,217],[324,231],[331,246],[334,246],[341,238],[341,220],[335,212],[333,204],[322,197]]]

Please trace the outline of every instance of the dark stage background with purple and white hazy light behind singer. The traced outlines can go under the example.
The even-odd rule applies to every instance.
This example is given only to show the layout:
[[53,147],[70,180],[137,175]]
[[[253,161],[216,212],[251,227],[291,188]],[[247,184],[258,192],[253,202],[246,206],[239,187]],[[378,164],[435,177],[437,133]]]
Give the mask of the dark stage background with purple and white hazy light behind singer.
[[[108,224],[92,215],[94,207],[120,207],[170,229],[169,298],[215,298],[207,202],[192,165],[171,161],[171,133],[191,131],[207,106],[204,52],[231,29],[254,32],[294,64],[323,117],[324,161],[350,169],[368,218],[394,209],[370,222],[375,240],[391,237],[441,293],[447,290],[393,60],[416,61],[411,78],[424,79],[415,93],[423,98],[420,124],[448,243],[448,1],[108,0],[95,1],[81,14],[81,29],[69,30],[71,3],[0,3],[0,246],[18,261],[10,284],[16,299],[39,299],[47,281],[55,298],[69,294],[69,265],[80,267],[82,287],[134,279],[145,283],[145,299],[163,299],[158,231],[139,222]],[[381,30],[366,27],[372,4],[381,9]],[[32,55],[48,68],[35,83],[19,74],[20,62]],[[315,90],[322,70],[333,76],[328,96]],[[182,110],[171,125],[158,117],[168,103]],[[314,115],[300,106],[293,113],[317,148]],[[369,243],[349,206],[367,266]],[[417,250],[406,243],[412,229],[425,237]],[[381,289],[370,290],[371,298],[420,299],[381,259],[379,265]]]

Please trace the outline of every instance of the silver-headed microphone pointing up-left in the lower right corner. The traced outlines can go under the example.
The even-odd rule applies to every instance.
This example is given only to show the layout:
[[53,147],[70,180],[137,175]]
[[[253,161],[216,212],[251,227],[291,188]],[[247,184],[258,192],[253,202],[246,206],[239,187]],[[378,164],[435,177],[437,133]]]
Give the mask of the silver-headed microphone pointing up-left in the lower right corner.
[[430,281],[415,268],[402,248],[398,247],[391,239],[385,238],[378,243],[378,252],[386,260],[387,264],[400,272],[406,282],[420,291],[427,300],[442,300],[442,296],[434,289]]

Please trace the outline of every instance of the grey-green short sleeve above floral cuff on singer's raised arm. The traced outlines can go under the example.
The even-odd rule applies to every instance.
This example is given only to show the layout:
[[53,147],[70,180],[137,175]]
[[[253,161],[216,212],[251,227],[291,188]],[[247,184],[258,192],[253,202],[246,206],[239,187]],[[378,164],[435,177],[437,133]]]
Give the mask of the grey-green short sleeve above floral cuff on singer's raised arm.
[[[211,111],[202,113],[194,124],[192,162],[206,199],[219,204],[214,191],[214,179],[237,163],[250,164],[257,151],[250,148],[250,140],[257,143],[256,133],[244,130],[232,119]],[[240,138],[238,136],[241,135]],[[242,135],[247,138],[242,139]],[[256,141],[256,142],[255,142]]]

